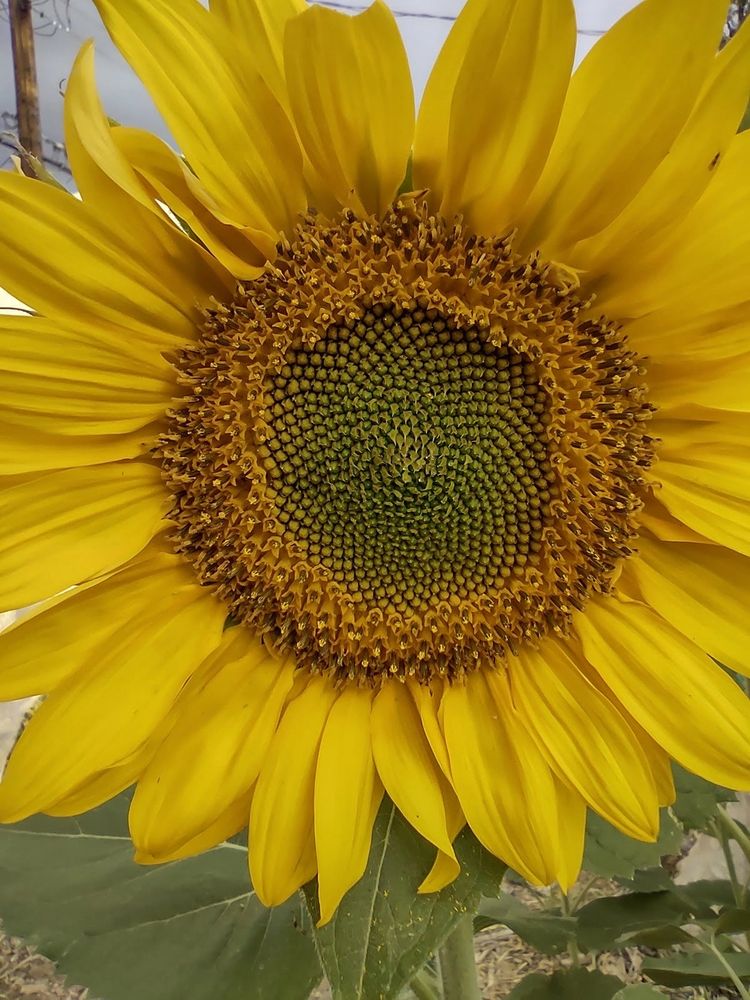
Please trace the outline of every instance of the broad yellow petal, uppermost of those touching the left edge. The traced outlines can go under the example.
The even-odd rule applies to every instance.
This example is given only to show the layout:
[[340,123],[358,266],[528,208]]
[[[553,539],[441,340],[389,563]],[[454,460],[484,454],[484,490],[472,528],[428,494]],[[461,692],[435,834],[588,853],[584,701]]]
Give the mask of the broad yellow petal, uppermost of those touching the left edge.
[[184,260],[144,256],[137,228],[113,230],[106,216],[28,177],[0,172],[0,274],[3,287],[50,317],[114,326],[157,350],[195,337],[199,301],[226,294],[212,273],[191,277]]

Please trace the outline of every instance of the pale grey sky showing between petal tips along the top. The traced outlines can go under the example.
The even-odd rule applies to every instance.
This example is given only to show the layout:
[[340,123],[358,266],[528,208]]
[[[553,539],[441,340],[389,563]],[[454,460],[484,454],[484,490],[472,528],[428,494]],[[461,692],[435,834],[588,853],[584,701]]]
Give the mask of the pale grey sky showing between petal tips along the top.
[[[205,0],[204,0],[205,2]],[[339,0],[357,9],[363,0]],[[387,0],[398,14],[412,65],[415,89],[421,94],[430,67],[463,0]],[[596,32],[606,30],[636,0],[576,0],[579,56],[596,40]],[[67,6],[67,16],[66,16]],[[3,112],[15,111],[10,29],[7,0],[0,0],[0,132]],[[428,14],[429,16],[422,16]],[[41,93],[42,131],[45,137],[62,140],[62,99],[60,90],[81,44],[93,36],[96,68],[104,107],[111,118],[159,132],[166,132],[148,96],[123,63],[101,26],[91,0],[38,0],[34,4],[37,32],[37,69]],[[11,150],[0,145],[0,167],[8,166]]]

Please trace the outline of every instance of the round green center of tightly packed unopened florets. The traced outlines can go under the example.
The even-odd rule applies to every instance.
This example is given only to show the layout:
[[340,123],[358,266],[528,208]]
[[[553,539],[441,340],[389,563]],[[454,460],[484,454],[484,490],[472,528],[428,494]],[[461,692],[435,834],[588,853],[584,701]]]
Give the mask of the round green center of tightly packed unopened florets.
[[556,490],[535,364],[435,310],[378,304],[350,327],[268,380],[282,540],[400,612],[521,574]]

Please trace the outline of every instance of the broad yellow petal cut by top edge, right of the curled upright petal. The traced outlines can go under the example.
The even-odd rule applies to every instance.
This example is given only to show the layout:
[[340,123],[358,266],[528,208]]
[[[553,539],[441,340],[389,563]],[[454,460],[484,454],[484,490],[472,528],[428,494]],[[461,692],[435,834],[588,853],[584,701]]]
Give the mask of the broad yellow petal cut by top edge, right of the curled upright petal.
[[234,65],[232,36],[196,0],[95,0],[223,221],[291,234],[306,207],[299,147],[259,73]]

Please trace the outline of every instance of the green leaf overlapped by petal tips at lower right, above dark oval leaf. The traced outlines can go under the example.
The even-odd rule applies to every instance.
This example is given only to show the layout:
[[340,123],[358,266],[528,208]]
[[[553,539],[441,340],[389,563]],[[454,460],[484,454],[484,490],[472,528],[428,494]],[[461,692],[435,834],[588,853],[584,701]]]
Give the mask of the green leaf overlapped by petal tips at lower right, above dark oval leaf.
[[666,809],[661,811],[659,839],[655,844],[626,837],[605,820],[589,812],[583,867],[606,878],[632,878],[640,868],[659,864],[664,854],[673,854],[682,845],[682,830]]

